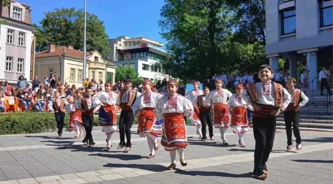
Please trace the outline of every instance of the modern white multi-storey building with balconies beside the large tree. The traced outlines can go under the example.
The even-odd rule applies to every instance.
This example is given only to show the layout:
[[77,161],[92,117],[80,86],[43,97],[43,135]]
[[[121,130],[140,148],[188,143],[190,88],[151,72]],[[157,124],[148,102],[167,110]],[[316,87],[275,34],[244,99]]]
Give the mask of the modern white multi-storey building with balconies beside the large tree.
[[165,59],[167,52],[162,43],[145,37],[126,36],[109,40],[111,52],[104,59],[114,61],[117,66],[134,67],[143,79],[163,80],[164,74],[158,63]]

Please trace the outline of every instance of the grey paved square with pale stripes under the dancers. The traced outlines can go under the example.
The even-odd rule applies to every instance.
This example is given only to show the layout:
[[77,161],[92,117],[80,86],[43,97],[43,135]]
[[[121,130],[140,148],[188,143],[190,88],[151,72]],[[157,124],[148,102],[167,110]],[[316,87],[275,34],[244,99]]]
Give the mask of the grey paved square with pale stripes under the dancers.
[[[99,129],[99,130],[97,130]],[[146,138],[132,129],[132,149],[117,150],[119,133],[112,136],[113,147],[106,150],[105,134],[93,131],[96,145],[84,146],[74,133],[58,138],[56,133],[0,136],[0,184],[332,184],[333,134],[302,131],[303,149],[295,144],[285,151],[286,135],[278,130],[267,163],[270,171],[265,182],[251,178],[254,138],[227,132],[229,145],[223,145],[214,129],[215,140],[200,141],[195,127],[188,126],[189,146],[185,149],[188,166],[179,160],[175,171],[167,171],[169,153],[160,146],[153,159],[146,159]],[[159,138],[160,140],[160,138]],[[177,159],[179,157],[177,156]]]

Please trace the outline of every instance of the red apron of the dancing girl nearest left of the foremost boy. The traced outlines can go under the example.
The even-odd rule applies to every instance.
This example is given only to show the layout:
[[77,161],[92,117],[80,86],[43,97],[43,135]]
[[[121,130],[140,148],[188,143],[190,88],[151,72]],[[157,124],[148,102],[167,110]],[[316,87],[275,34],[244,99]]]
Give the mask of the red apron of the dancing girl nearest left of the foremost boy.
[[234,107],[231,114],[231,127],[247,127],[247,111],[244,107]]

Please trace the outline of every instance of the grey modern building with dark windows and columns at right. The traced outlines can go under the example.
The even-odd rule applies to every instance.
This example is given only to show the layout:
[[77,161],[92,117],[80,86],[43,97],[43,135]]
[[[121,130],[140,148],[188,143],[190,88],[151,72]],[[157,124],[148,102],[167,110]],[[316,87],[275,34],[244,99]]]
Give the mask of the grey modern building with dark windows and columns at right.
[[309,70],[317,88],[318,73],[332,66],[333,0],[266,0],[266,47],[274,71],[278,58],[289,62],[291,76],[297,62]]

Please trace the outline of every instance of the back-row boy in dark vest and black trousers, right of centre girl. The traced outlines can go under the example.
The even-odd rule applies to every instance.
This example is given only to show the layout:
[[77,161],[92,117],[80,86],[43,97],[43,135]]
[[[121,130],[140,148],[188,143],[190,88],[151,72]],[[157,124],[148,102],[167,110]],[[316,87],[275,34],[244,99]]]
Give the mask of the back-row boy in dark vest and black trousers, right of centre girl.
[[212,120],[212,113],[211,113],[211,104],[206,103],[206,97],[209,94],[209,88],[203,88],[203,94],[195,97],[192,101],[195,108],[199,108],[199,117],[200,122],[202,125],[202,138],[203,142],[206,141],[206,126],[208,125],[209,137],[211,140],[214,140],[213,134],[213,120]]

